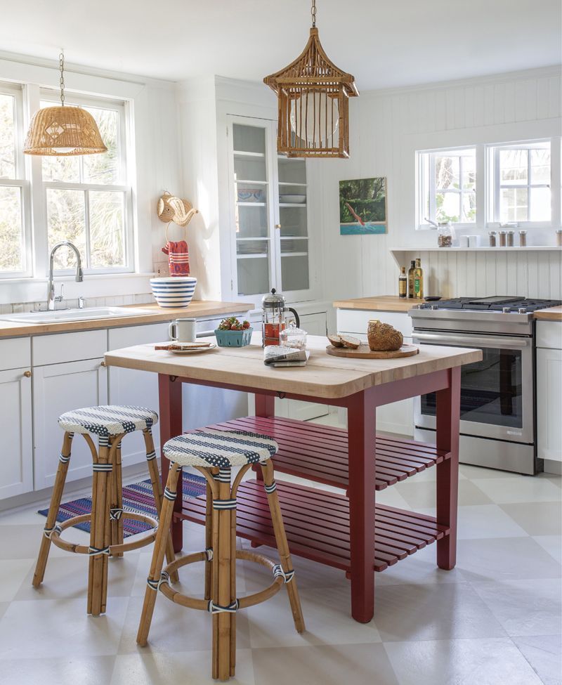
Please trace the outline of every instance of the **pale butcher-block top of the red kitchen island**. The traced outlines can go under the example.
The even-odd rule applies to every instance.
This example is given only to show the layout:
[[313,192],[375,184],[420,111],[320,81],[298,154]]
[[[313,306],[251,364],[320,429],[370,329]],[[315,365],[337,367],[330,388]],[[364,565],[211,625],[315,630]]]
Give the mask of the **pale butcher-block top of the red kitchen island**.
[[[214,337],[208,338],[214,341]],[[414,357],[401,359],[350,359],[326,353],[327,339],[308,336],[311,357],[306,367],[273,369],[263,363],[261,333],[247,347],[219,347],[192,355],[155,351],[136,345],[105,354],[107,366],[152,371],[219,385],[273,390],[316,398],[341,398],[373,386],[477,362],[482,351],[471,348],[420,345]]]

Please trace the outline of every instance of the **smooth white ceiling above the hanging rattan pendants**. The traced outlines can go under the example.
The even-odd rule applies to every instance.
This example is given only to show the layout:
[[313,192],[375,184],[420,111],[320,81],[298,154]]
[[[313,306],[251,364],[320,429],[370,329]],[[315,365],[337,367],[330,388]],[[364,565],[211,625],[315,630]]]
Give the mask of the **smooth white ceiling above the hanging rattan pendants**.
[[[317,0],[328,56],[360,90],[552,65],[560,0]],[[174,81],[260,80],[299,55],[308,0],[15,0],[0,50]],[[1,74],[0,74],[1,76]]]

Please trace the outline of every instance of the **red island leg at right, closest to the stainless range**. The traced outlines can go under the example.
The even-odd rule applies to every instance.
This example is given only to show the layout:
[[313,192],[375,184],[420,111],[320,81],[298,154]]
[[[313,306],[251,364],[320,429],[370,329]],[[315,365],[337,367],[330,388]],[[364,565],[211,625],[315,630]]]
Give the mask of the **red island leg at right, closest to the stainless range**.
[[459,490],[459,416],[461,402],[461,369],[450,369],[449,384],[437,395],[438,450],[450,452],[450,459],[437,464],[437,523],[449,526],[450,533],[437,541],[437,566],[450,570],[457,563],[457,502]]

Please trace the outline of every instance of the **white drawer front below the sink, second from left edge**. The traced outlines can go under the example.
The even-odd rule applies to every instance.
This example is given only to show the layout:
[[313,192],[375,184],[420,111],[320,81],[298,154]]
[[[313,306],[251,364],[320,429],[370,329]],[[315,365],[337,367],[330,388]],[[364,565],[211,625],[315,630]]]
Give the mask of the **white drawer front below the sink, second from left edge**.
[[33,365],[96,359],[107,352],[107,331],[80,331],[32,338]]

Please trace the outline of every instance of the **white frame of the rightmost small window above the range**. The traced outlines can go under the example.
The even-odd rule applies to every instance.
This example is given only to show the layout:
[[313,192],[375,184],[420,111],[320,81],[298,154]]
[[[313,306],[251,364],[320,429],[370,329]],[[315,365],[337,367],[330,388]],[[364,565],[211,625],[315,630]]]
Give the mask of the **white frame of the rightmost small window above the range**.
[[[532,150],[540,143],[549,143],[550,145],[550,183],[531,183],[531,156],[527,154],[527,183],[502,183],[499,177],[499,154],[502,150]],[[517,190],[527,190],[528,204],[530,207],[531,188],[549,188],[550,190],[550,220],[549,221],[514,221],[520,228],[551,228],[554,221],[554,188],[553,188],[553,155],[554,140],[552,138],[537,138],[531,141],[517,141],[516,143],[497,143],[486,145],[487,160],[488,160],[488,194],[490,202],[488,203],[488,226],[492,223],[502,223],[500,215],[500,196],[502,188],[516,188]]]

